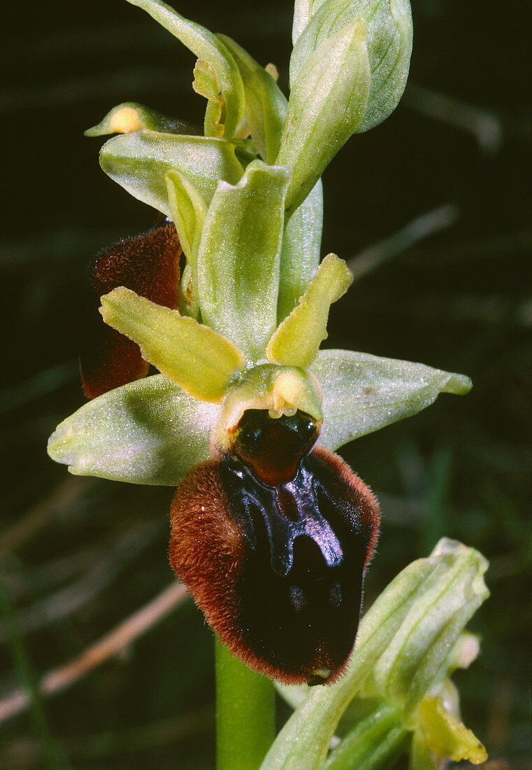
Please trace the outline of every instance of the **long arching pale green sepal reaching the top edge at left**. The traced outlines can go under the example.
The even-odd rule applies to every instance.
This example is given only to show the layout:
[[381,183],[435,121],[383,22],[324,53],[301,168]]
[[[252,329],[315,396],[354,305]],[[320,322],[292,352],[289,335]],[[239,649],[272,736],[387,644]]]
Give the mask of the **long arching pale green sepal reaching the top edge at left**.
[[[128,0],[143,8],[155,21],[181,40],[198,59],[204,59],[216,73],[223,99],[221,126],[223,136],[231,139],[244,114],[244,86],[231,54],[216,35],[196,22],[191,22],[161,0]],[[209,121],[205,128],[209,129]],[[218,131],[218,129],[214,129]],[[214,136],[217,136],[215,133]]]

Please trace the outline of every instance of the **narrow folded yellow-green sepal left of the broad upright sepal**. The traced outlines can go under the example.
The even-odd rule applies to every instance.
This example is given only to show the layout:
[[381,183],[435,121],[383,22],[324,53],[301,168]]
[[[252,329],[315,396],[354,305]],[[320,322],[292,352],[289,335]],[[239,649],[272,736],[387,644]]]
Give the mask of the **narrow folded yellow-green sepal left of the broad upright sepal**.
[[169,171],[165,177],[171,218],[178,231],[179,243],[187,258],[180,283],[179,310],[197,317],[198,304],[198,249],[207,206],[198,189],[178,171]]

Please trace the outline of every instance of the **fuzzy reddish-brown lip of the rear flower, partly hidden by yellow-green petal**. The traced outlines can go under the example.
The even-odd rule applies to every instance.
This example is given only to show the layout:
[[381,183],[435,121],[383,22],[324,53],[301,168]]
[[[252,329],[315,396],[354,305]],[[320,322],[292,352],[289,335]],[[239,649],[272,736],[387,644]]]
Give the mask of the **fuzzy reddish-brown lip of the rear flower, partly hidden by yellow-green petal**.
[[[181,247],[173,223],[115,243],[96,256],[92,285],[98,299],[125,286],[148,300],[175,308],[178,305]],[[138,345],[93,318],[80,358],[81,382],[88,398],[95,398],[148,374],[149,364]]]

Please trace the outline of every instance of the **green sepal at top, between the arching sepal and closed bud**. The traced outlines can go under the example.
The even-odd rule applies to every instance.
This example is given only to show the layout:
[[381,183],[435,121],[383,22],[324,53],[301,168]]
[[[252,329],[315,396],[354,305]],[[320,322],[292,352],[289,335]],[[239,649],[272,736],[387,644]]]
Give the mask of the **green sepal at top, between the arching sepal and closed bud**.
[[244,119],[261,158],[274,163],[281,144],[287,100],[269,72],[238,43],[217,35],[231,52],[244,83]]

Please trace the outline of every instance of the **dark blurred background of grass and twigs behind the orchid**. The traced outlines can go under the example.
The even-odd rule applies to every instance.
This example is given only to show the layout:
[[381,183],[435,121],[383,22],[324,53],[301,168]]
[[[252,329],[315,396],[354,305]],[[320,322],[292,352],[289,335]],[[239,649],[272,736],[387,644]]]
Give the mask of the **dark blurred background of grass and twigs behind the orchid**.
[[[278,65],[286,90],[291,3],[175,5],[264,65]],[[145,634],[118,640],[119,654],[80,675],[91,645],[171,584],[173,490],[73,478],[45,453],[55,425],[84,401],[78,347],[95,312],[88,264],[154,218],[101,172],[101,142],[82,132],[128,100],[201,122],[194,56],[121,0],[29,0],[8,13],[0,100],[0,765],[54,766],[55,754],[91,770],[213,768],[213,643],[190,600],[174,598],[158,623],[149,605]],[[357,281],[334,306],[328,345],[467,373],[474,389],[444,395],[343,454],[384,514],[367,606],[444,534],[490,559],[491,597],[470,624],[482,652],[454,679],[464,721],[490,756],[525,770],[532,764],[530,18],[516,0],[414,0],[413,13],[401,105],[351,139],[324,176],[323,253],[358,255]],[[25,708],[21,682],[84,654],[62,669],[62,691],[48,677],[48,695]],[[280,705],[279,720],[287,715]]]

